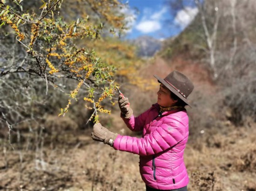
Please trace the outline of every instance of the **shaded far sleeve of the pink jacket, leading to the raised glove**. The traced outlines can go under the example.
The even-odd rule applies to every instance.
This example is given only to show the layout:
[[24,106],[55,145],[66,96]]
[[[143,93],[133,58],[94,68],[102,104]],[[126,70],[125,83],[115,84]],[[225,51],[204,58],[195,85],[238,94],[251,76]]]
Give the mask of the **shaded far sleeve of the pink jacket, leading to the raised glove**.
[[121,118],[123,119],[123,121],[131,131],[139,132],[143,130],[143,126],[145,125],[145,120],[151,109],[152,107],[149,108],[146,112],[141,113],[141,115],[139,115],[138,117],[134,117],[134,115],[132,115],[132,117],[129,119],[125,119],[122,116]]

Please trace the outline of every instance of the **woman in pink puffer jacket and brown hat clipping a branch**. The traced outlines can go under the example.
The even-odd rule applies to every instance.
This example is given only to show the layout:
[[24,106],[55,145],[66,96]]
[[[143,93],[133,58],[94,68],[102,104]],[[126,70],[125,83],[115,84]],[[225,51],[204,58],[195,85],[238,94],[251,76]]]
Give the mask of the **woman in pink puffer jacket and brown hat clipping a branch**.
[[142,138],[121,136],[94,125],[92,138],[116,150],[140,155],[141,178],[146,191],[187,191],[189,177],[183,153],[189,136],[189,118],[184,108],[193,83],[173,71],[160,82],[157,103],[134,117],[127,98],[119,96],[121,117],[132,131],[143,131]]

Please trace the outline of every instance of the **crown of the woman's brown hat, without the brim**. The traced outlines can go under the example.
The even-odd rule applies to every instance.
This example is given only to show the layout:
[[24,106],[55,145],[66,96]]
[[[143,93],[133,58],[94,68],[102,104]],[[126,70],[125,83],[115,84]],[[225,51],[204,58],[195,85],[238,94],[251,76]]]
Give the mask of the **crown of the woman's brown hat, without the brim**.
[[182,94],[184,98],[187,98],[194,89],[192,81],[178,71],[173,71],[168,74],[164,79],[169,85],[173,86],[177,92]]

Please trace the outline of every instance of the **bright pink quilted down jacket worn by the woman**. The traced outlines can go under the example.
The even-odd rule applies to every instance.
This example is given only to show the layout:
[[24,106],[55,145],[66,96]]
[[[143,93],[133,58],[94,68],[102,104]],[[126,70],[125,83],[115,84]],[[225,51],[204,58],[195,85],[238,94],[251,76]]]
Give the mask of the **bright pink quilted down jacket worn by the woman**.
[[143,131],[142,138],[118,135],[113,147],[140,155],[141,178],[149,187],[179,189],[189,184],[183,153],[189,136],[186,110],[159,113],[152,105],[138,117],[124,119],[132,131]]

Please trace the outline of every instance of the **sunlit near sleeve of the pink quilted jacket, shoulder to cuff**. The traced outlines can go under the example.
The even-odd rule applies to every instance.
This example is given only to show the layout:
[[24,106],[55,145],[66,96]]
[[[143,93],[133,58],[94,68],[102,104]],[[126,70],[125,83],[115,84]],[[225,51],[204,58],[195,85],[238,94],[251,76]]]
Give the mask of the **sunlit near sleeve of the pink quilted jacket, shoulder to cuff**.
[[113,147],[141,156],[153,155],[176,145],[185,137],[184,125],[180,122],[163,123],[144,138],[118,135]]

